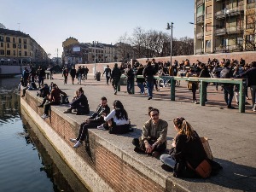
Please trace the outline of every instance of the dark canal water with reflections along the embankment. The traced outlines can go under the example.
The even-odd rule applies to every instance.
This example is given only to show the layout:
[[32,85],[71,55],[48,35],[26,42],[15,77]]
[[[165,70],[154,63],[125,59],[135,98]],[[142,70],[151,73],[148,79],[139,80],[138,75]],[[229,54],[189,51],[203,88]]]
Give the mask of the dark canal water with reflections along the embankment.
[[0,191],[88,191],[37,127],[21,117],[19,81],[0,79]]

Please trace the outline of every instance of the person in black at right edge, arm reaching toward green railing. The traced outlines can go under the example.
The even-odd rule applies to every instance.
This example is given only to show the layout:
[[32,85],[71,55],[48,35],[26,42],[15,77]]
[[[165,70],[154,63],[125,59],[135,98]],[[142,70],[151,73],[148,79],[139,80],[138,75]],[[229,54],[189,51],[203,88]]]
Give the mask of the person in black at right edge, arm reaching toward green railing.
[[247,77],[247,86],[250,87],[252,95],[253,112],[256,112],[256,61],[250,64],[251,68],[241,73],[237,78]]

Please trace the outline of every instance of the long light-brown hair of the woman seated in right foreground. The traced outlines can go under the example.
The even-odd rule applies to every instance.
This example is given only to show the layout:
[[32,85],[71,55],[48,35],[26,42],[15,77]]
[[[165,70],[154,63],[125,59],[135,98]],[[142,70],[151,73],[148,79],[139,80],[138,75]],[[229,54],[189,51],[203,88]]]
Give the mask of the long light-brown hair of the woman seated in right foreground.
[[173,124],[177,126],[177,134],[186,135],[188,140],[194,139],[195,134],[193,127],[183,117],[177,117],[173,119]]

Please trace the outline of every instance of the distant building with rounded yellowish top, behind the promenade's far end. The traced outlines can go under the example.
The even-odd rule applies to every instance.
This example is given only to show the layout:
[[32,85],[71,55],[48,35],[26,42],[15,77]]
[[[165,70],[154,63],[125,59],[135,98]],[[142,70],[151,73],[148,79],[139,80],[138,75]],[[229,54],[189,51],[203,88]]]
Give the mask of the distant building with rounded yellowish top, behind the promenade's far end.
[[67,66],[119,60],[117,47],[112,44],[79,43],[76,38],[67,38],[62,43],[62,47],[62,62]]

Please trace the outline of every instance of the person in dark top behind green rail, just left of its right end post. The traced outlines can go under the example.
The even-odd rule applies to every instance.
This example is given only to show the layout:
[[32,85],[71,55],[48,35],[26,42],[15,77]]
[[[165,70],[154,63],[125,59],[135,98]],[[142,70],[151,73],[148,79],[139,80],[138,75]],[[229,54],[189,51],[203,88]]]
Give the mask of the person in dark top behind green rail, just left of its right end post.
[[[225,61],[224,69],[220,72],[221,79],[233,78],[233,72],[229,67],[230,61]],[[234,84],[222,84],[222,88],[224,90],[224,100],[227,103],[227,108],[235,109],[235,107],[231,105],[234,96]]]

